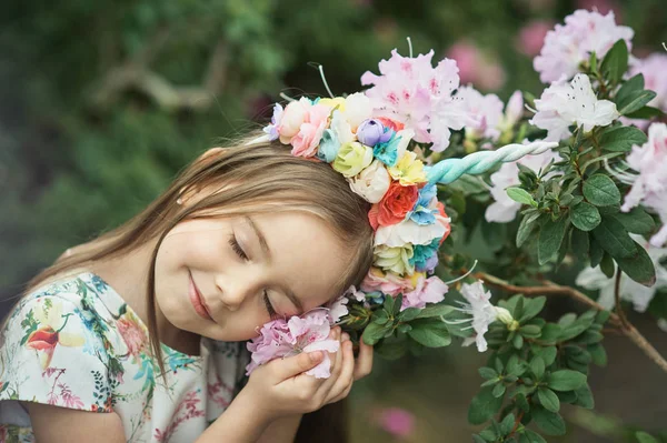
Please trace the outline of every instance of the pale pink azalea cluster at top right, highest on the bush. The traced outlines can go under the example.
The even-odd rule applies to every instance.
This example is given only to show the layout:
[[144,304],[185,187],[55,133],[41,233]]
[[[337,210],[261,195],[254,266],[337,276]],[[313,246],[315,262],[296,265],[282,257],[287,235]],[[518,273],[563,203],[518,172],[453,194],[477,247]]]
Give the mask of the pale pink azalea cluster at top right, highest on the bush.
[[630,28],[616,24],[613,11],[603,16],[579,9],[565,18],[565,26],[556,24],[547,32],[545,46],[532,64],[544,83],[561,77],[570,79],[593,51],[601,59],[619,39],[625,39],[631,49],[634,34]]

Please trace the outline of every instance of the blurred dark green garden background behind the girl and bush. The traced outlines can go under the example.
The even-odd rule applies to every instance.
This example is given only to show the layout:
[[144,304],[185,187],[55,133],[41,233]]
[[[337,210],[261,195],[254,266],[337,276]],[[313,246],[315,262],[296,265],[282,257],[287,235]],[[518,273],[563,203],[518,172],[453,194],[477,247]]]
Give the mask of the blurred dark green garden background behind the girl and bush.
[[[516,89],[539,94],[532,57],[577,8],[613,9],[635,29],[637,57],[667,41],[664,0],[3,2],[0,313],[67,248],[129,219],[205,149],[258,127],[278,93],[325,95],[313,63],[335,93],[354,92],[391,49],[407,56],[409,36],[415,53],[457,59],[464,83],[502,100]],[[633,320],[667,352],[665,332]],[[606,344],[610,368],[590,376],[596,414],[566,410],[569,433],[554,441],[615,441],[620,424],[665,427],[665,374],[626,339]],[[482,362],[456,345],[378,362],[352,394],[352,441],[470,441],[466,411]],[[409,412],[406,436],[382,429],[387,407]]]

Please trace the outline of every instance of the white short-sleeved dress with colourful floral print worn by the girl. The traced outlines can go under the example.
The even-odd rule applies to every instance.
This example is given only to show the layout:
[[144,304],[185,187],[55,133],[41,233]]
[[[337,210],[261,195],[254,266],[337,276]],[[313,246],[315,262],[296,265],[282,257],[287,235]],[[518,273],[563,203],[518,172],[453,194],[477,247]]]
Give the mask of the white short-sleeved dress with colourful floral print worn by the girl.
[[34,442],[23,402],[116,412],[128,442],[191,443],[229,405],[243,343],[201,339],[200,355],[162,344],[98,275],[84,272],[23,298],[0,331],[0,442]]

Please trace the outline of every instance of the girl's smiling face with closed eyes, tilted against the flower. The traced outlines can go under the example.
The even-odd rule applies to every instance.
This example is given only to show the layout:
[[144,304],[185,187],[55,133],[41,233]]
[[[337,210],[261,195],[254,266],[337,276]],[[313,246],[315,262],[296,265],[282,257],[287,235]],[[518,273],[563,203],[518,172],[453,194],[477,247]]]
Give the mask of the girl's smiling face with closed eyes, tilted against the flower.
[[348,255],[327,224],[307,213],[189,220],[158,250],[157,315],[215,340],[249,340],[271,318],[339,295]]

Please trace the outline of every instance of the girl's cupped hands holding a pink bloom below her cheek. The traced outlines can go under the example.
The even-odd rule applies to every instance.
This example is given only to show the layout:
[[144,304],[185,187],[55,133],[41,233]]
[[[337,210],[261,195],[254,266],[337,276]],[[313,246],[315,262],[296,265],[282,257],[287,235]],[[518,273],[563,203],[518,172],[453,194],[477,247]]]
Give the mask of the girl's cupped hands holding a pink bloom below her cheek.
[[[329,338],[341,340],[340,328],[334,328]],[[251,399],[247,403],[256,405],[256,412],[269,422],[286,415],[312,412],[345,397],[356,375],[352,343],[347,339],[340,343],[337,352],[329,353],[331,376],[328,379],[303,374],[322,361],[321,351],[301,353],[257,368],[238,396]],[[368,363],[360,368],[359,374],[365,375],[365,371],[369,371]]]

